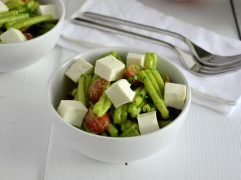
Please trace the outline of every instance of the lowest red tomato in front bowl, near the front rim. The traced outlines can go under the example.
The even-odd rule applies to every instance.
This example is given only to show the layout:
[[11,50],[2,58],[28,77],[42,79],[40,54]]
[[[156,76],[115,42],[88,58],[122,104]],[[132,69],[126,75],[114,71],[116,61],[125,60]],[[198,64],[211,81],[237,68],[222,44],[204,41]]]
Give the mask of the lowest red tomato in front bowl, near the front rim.
[[93,110],[89,109],[89,111],[84,117],[84,123],[90,131],[99,134],[104,132],[108,128],[110,124],[110,116],[108,113],[105,113],[105,115],[98,118],[94,114]]

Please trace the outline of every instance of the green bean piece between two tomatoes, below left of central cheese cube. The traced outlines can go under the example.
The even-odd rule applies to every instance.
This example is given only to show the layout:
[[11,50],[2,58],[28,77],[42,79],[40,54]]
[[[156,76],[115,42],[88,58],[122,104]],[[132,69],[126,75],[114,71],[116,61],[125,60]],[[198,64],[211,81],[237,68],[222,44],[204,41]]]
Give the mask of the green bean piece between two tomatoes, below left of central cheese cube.
[[110,109],[111,104],[112,103],[108,96],[103,93],[99,101],[95,103],[93,107],[93,112],[96,114],[97,117],[101,117],[105,115],[105,113]]

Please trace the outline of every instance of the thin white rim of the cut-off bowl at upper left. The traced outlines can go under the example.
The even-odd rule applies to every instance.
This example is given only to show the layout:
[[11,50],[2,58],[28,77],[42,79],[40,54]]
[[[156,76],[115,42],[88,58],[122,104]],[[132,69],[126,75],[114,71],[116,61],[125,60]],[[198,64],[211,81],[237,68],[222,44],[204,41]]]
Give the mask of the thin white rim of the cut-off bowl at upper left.
[[27,41],[18,42],[18,43],[9,43],[9,44],[1,44],[0,43],[0,48],[1,47],[6,47],[6,48],[9,47],[9,48],[11,48],[13,46],[18,46],[20,44],[31,44],[31,43],[34,43],[35,41],[38,41],[39,39],[45,38],[45,36],[48,36],[52,31],[54,31],[55,29],[59,28],[59,26],[61,26],[62,23],[64,22],[66,10],[65,10],[65,5],[64,5],[63,0],[55,0],[55,1],[59,2],[60,12],[62,12],[62,13],[60,14],[60,17],[59,17],[59,19],[57,21],[57,24],[52,29],[50,29],[48,32],[42,34],[41,36],[38,36],[36,38],[30,39],[30,40],[27,40]]

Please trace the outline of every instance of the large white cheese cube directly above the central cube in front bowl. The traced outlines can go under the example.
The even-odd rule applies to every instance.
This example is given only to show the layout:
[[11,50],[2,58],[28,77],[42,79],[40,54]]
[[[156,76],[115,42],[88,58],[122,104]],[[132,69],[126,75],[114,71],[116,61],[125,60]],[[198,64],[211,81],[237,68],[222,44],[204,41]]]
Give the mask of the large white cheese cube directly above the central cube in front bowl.
[[96,61],[95,74],[107,81],[121,79],[125,70],[125,64],[109,55]]

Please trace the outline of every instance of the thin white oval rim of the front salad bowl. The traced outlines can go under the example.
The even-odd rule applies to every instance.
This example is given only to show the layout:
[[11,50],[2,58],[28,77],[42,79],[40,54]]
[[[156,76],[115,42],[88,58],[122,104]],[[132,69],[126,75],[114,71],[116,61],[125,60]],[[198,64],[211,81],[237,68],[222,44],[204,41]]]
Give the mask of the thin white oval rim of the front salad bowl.
[[[67,58],[67,60],[64,61],[64,63],[60,64],[60,66],[58,66],[52,72],[52,74],[49,77],[48,83],[47,83],[47,98],[48,98],[47,99],[47,101],[48,101],[47,103],[48,103],[48,106],[49,106],[49,109],[51,110],[51,112],[53,112],[55,114],[56,118],[58,118],[58,121],[60,121],[60,123],[65,124],[65,126],[67,125],[71,129],[73,129],[75,131],[75,133],[79,133],[79,134],[83,133],[83,135],[94,137],[94,138],[98,138],[98,139],[102,139],[102,140],[131,141],[131,140],[137,140],[137,139],[140,139],[140,138],[143,139],[143,138],[148,138],[148,137],[151,137],[151,136],[156,136],[157,134],[161,133],[162,131],[171,128],[174,124],[176,124],[175,122],[177,122],[178,119],[182,118],[182,116],[184,116],[184,114],[187,113],[187,111],[189,110],[189,107],[190,107],[190,104],[191,104],[191,96],[192,96],[192,94],[191,94],[191,87],[190,87],[189,81],[187,80],[187,77],[185,76],[185,74],[181,71],[181,69],[177,65],[175,65],[173,62],[171,62],[171,61],[169,61],[168,59],[165,59],[165,58],[161,58],[161,60],[165,61],[166,63],[169,63],[172,67],[174,67],[183,76],[183,79],[184,79],[186,87],[187,87],[186,101],[185,101],[185,104],[184,104],[184,107],[183,107],[181,113],[177,116],[176,119],[174,119],[171,123],[169,123],[165,127],[162,127],[159,130],[157,130],[157,131],[153,131],[151,133],[147,133],[147,134],[143,134],[143,135],[139,135],[139,136],[130,136],[130,137],[101,136],[101,135],[98,135],[98,134],[94,134],[94,133],[83,131],[83,130],[81,130],[79,128],[76,128],[76,127],[72,126],[69,123],[66,123],[65,121],[63,121],[62,117],[60,117],[60,115],[57,113],[56,109],[54,108],[54,106],[53,106],[53,104],[52,104],[52,102],[50,100],[51,99],[50,98],[51,97],[50,89],[51,89],[51,86],[52,86],[51,82],[53,81],[53,78],[56,76],[56,74],[59,71],[61,71],[62,68],[64,68],[65,66],[67,66],[68,64],[73,62],[76,58],[83,57],[85,55],[92,54],[92,53],[105,53],[105,52],[113,51],[113,50],[116,50],[117,52],[118,51],[145,52],[145,50],[143,50],[143,49],[137,49],[137,48],[126,47],[126,46],[112,46],[112,47],[102,47],[102,48],[96,48],[96,49],[87,50],[87,51],[84,51],[82,53],[78,53],[77,55],[74,55],[72,57]],[[161,57],[161,56],[159,56],[158,53],[157,53],[157,56],[158,56],[158,58]]]

